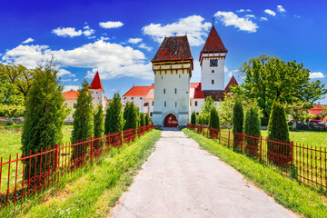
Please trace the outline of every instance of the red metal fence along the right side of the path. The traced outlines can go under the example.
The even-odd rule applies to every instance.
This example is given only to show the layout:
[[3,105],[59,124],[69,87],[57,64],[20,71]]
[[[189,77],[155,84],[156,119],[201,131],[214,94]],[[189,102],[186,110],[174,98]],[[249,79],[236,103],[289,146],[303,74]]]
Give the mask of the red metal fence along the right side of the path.
[[261,163],[273,165],[302,183],[327,188],[326,148],[292,141],[269,140],[263,136],[236,134],[195,124],[187,124],[187,128],[208,138],[217,139],[220,144],[252,156]]

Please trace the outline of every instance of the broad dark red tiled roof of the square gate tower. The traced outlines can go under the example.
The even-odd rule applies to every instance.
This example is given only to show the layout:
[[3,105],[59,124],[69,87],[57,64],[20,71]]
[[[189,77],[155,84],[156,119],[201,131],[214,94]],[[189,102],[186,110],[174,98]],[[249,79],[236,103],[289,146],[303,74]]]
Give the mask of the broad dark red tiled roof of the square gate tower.
[[192,61],[190,45],[187,36],[164,37],[162,45],[160,45],[154,59],[151,62],[165,61]]

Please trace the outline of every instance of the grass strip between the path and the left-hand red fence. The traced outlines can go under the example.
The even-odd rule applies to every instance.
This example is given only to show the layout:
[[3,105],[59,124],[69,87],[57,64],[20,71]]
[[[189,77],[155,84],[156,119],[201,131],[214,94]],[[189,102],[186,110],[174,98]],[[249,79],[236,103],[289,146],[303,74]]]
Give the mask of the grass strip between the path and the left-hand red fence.
[[[152,153],[160,131],[144,134],[132,144],[112,149],[80,178],[54,190],[18,217],[104,217],[132,183],[133,176]],[[1,214],[0,214],[1,216]]]

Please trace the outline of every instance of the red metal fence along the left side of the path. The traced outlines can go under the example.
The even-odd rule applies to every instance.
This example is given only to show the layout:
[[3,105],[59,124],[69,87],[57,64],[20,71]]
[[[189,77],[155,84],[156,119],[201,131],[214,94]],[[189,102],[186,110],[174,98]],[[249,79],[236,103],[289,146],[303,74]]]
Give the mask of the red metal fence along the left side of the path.
[[111,147],[120,147],[134,141],[136,135],[154,129],[153,124],[121,133],[105,134],[78,140],[69,144],[55,144],[41,151],[30,151],[29,154],[15,159],[9,155],[9,161],[0,160],[0,211],[12,203],[41,193],[47,187],[54,186],[60,178],[74,170],[93,164],[99,157],[110,151]]

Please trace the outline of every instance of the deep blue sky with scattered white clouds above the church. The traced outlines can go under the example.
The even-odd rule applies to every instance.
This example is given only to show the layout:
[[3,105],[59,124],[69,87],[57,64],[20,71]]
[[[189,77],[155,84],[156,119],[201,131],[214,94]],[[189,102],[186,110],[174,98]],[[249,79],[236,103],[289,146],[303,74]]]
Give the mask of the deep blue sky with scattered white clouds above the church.
[[[47,3],[48,2],[48,3]],[[187,35],[200,82],[200,51],[214,25],[229,50],[225,84],[260,54],[296,60],[327,82],[325,1],[5,1],[0,61],[35,67],[51,55],[65,89],[99,71],[105,95],[154,82],[151,59],[164,36]],[[327,100],[321,101],[327,104]]]

